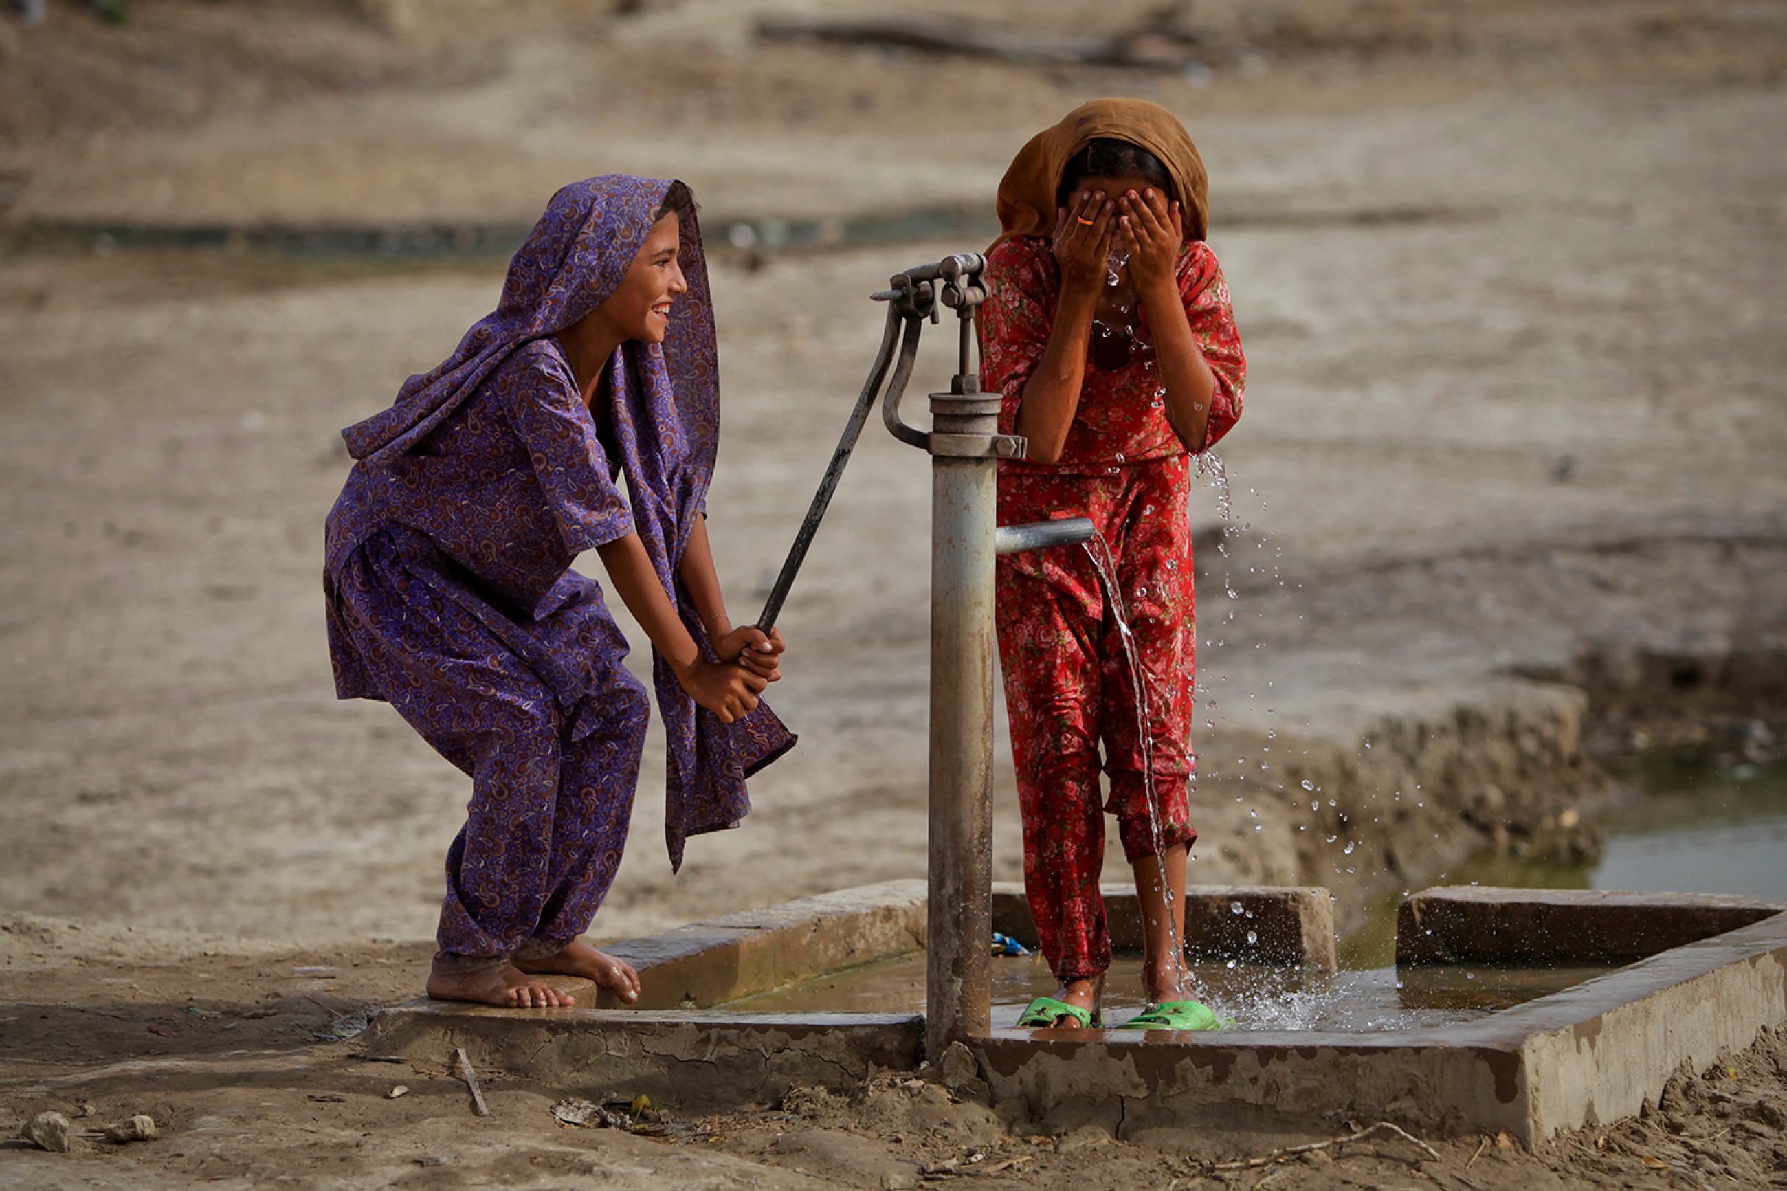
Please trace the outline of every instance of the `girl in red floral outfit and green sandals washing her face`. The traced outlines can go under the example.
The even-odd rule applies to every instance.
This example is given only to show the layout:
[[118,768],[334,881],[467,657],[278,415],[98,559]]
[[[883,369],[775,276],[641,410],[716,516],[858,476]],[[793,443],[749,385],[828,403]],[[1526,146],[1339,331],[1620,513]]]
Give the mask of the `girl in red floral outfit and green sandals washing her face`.
[[1103,1023],[1112,955],[1099,896],[1104,811],[1117,816],[1145,923],[1149,1009],[1126,1025],[1219,1025],[1188,1000],[1181,946],[1185,859],[1197,839],[1187,498],[1190,455],[1240,418],[1246,361],[1204,214],[1197,148],[1170,112],[1140,100],[1074,109],[1033,137],[999,184],[983,373],[1004,395],[999,429],[1029,439],[1026,459],[999,464],[999,521],[1092,518],[1128,604],[1149,707],[1144,741],[1090,559],[1076,550],[1001,557],[999,659],[1024,886],[1061,982],[1020,1025]]

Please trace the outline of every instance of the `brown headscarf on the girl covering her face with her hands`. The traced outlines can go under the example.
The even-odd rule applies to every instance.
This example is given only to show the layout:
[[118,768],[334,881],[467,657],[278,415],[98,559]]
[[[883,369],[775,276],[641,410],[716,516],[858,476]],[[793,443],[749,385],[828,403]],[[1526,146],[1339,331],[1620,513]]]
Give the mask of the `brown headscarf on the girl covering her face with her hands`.
[[[1044,129],[1011,159],[999,180],[999,239],[1054,234],[1054,191],[1061,170],[1086,141],[1113,137],[1160,157],[1185,212],[1185,239],[1203,239],[1210,216],[1210,175],[1179,118],[1147,100],[1090,100]],[[999,243],[999,241],[994,241]]]

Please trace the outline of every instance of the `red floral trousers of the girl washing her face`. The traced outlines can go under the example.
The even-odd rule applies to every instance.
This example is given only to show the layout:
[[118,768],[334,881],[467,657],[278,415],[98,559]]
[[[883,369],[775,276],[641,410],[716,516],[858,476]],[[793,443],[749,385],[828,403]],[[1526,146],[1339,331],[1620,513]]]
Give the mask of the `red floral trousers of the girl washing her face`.
[[[1078,546],[999,559],[995,595],[1019,807],[1024,889],[1042,954],[1061,980],[1110,966],[1099,896],[1104,811],[1135,862],[1197,839],[1188,784],[1196,648],[1190,457],[1067,475],[1003,470],[999,523],[1090,518],[1115,561],[1147,693],[1147,745],[1117,621]],[[1101,759],[1103,750],[1103,759]],[[1151,754],[1151,755],[1149,755]],[[1153,764],[1153,811],[1144,773]],[[1110,798],[1099,796],[1099,771]]]

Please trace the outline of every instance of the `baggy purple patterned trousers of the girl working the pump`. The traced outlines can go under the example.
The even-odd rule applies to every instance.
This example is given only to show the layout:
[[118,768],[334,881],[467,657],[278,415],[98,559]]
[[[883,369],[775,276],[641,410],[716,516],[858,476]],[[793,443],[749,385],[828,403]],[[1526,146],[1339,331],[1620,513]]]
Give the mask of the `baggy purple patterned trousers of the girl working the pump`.
[[520,616],[400,527],[331,575],[329,632],[338,657],[357,659],[354,682],[472,777],[436,971],[565,948],[615,880],[650,712],[584,582],[549,616]]

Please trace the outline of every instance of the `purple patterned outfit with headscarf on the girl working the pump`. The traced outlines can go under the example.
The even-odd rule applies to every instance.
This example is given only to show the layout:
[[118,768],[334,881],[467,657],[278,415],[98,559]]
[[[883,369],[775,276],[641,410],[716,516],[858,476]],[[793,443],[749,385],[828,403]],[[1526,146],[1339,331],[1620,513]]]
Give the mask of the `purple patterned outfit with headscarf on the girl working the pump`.
[[[615,354],[611,400],[591,414],[552,336],[615,291],[667,202],[688,293],[663,345]],[[608,175],[561,189],[511,261],[497,311],[343,437],[357,462],[329,514],[323,580],[336,693],[390,702],[472,775],[434,966],[558,952],[615,879],[650,714],[600,586],[572,561],[638,532],[713,659],[675,579],[718,441],[713,307],[688,187]],[[677,868],[688,836],[738,825],[745,777],[793,737],[767,704],[722,725],[663,657],[654,686]]]

